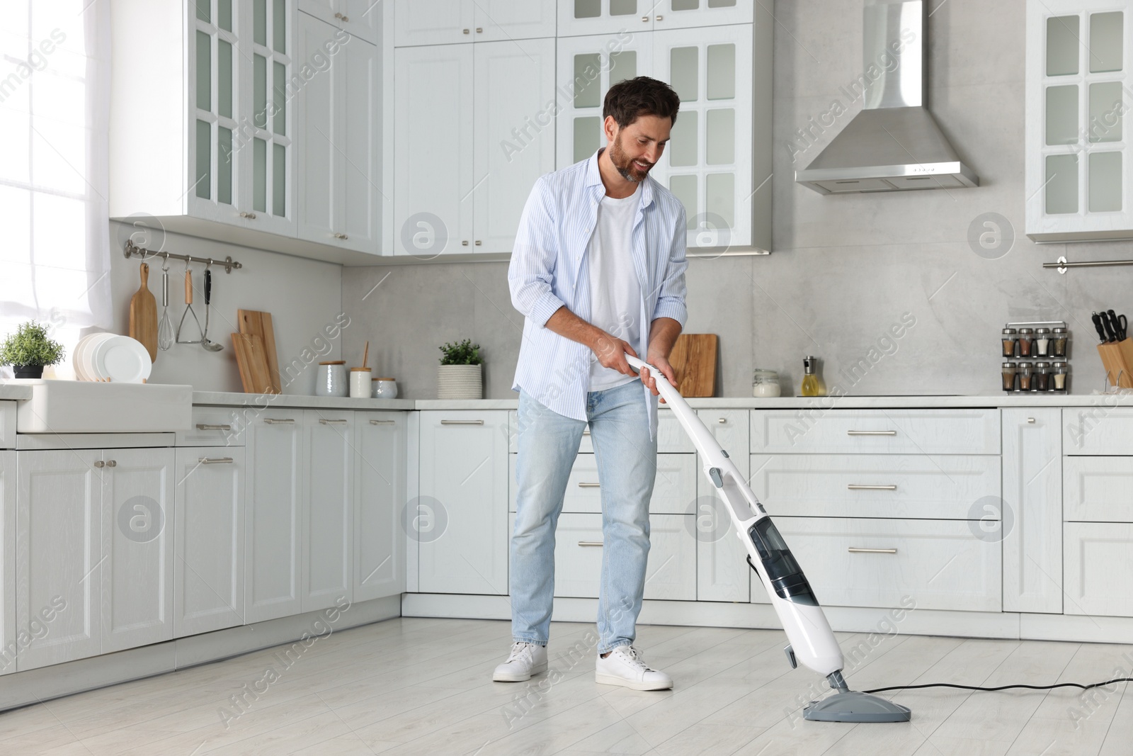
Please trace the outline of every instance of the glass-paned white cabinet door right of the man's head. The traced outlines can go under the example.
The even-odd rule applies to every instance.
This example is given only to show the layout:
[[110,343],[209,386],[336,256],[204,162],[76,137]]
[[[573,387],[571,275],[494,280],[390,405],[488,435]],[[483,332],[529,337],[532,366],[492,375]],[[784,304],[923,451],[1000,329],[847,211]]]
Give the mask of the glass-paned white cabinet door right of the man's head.
[[750,245],[752,27],[653,37],[655,76],[676,90],[681,110],[651,175],[684,204],[690,248]]

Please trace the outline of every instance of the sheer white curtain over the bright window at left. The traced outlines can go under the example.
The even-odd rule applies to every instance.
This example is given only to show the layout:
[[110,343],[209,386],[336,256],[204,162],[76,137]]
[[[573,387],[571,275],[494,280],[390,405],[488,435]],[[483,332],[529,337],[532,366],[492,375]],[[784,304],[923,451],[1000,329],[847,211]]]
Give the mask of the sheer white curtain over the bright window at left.
[[68,364],[112,317],[109,7],[0,2],[0,337],[39,320]]

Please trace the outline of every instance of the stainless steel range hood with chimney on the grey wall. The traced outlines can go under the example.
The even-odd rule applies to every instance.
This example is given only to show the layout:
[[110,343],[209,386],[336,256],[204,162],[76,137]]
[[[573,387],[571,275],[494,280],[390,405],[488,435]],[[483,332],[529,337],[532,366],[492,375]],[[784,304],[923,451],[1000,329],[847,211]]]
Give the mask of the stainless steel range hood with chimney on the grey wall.
[[820,194],[979,186],[925,108],[927,24],[922,0],[866,6],[863,73],[841,88],[862,110],[795,181]]

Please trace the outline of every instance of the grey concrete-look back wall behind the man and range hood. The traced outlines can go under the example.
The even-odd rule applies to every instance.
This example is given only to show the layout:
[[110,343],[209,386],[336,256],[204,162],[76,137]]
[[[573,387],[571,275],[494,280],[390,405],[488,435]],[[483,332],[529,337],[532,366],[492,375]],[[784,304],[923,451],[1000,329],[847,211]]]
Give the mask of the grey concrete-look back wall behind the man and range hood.
[[[1040,318],[1070,323],[1072,392],[1102,387],[1090,313],[1133,309],[1133,269],[1059,275],[1041,263],[1133,257],[1133,245],[1036,245],[1023,235],[1025,2],[928,5],[928,104],[981,186],[823,197],[793,171],[860,109],[842,87],[862,74],[862,0],[776,2],[775,175],[764,189],[774,192],[774,254],[693,260],[688,273],[685,330],[719,334],[719,396],[751,396],[753,367],[777,369],[784,394],[798,393],[806,355],[846,393],[996,393],[999,330]],[[811,128],[812,145],[800,141],[796,129],[811,117],[821,126],[836,100],[846,112]],[[969,243],[983,213],[1013,227],[1000,258]],[[505,263],[346,269],[342,301],[358,325],[344,332],[346,359],[360,359],[368,338],[372,365],[402,396],[435,397],[437,347],[470,338],[487,360],[485,397],[514,397],[522,316]],[[903,317],[913,324],[900,328]]]

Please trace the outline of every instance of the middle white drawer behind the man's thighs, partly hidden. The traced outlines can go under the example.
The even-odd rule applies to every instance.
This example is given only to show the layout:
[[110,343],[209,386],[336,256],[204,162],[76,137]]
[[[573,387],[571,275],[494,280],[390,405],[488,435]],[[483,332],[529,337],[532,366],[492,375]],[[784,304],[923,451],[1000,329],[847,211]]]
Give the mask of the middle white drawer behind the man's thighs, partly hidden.
[[[508,455],[509,479],[516,481],[518,455]],[[650,515],[688,515],[697,498],[696,457],[692,455],[657,455],[657,477],[649,500]],[[516,511],[516,485],[508,486],[508,511]],[[563,512],[602,512],[602,489],[598,486],[598,462],[594,455],[579,455],[566,481]]]

